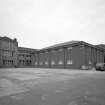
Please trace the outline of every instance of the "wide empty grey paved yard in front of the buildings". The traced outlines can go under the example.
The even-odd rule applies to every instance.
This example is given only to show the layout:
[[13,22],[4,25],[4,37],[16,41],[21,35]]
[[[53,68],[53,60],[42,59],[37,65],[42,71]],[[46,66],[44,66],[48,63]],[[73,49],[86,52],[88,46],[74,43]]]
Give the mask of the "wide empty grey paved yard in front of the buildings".
[[0,105],[105,105],[105,72],[0,69]]

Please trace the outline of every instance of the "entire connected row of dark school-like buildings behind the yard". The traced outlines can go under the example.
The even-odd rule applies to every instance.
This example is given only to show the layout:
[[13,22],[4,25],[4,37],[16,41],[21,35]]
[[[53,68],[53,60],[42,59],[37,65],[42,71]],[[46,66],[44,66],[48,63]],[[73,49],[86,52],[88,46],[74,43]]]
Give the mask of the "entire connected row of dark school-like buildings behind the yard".
[[88,69],[105,62],[105,49],[69,41],[40,50],[18,47],[16,39],[0,37],[0,67]]

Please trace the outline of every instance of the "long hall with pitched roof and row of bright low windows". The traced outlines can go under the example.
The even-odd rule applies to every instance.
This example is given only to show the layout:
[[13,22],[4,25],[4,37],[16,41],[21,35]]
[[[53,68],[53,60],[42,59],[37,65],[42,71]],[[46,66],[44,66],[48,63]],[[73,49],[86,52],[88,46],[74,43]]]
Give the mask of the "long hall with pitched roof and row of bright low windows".
[[70,41],[39,51],[35,64],[40,68],[88,69],[104,62],[104,50],[83,41]]

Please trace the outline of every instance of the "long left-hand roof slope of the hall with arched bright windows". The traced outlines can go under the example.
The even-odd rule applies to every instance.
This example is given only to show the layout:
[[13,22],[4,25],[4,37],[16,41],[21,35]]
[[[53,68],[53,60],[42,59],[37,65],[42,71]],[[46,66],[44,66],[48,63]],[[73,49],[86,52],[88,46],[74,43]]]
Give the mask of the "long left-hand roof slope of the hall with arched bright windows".
[[81,42],[81,41],[74,41],[74,40],[72,40],[72,41],[68,41],[68,42],[64,42],[64,43],[60,43],[60,44],[55,44],[53,46],[45,47],[45,48],[43,48],[41,50],[52,49],[52,48],[56,48],[56,47],[61,47],[61,46],[66,46],[66,45],[71,45],[71,44],[76,44],[76,43],[79,43],[79,42]]

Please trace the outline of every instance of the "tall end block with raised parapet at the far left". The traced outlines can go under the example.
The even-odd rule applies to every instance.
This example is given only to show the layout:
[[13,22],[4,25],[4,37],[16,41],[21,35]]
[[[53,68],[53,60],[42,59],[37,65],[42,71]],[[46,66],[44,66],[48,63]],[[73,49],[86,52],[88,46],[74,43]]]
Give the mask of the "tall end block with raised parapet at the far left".
[[18,42],[16,39],[0,37],[0,67],[17,66]]

